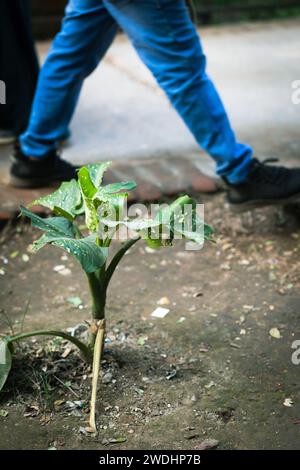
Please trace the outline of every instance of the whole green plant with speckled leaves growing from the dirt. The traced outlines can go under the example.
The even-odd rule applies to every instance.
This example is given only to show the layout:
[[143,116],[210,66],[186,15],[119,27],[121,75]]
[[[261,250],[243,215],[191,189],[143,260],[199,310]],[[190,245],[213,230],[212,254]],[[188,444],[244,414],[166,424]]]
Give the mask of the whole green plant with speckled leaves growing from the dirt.
[[[35,251],[54,245],[73,255],[80,263],[88,281],[92,301],[92,319],[87,343],[56,330],[22,332],[0,341],[0,390],[11,369],[14,343],[31,336],[58,336],[75,346],[83,359],[92,364],[92,397],[90,407],[91,431],[96,432],[96,394],[105,338],[105,306],[109,283],[125,253],[139,240],[151,248],[171,246],[176,238],[202,245],[211,239],[212,229],[197,214],[196,202],[189,196],[176,199],[171,205],[159,206],[152,217],[127,217],[125,208],[128,191],[134,182],[102,186],[102,178],[110,163],[92,164],[78,171],[78,180],[62,183],[54,193],[37,199],[31,205],[50,209],[52,217],[39,217],[28,208],[21,213],[33,227],[44,232],[34,242]],[[187,210],[186,210],[187,209]],[[85,217],[82,229],[78,217]],[[112,240],[126,229],[127,239],[114,256],[109,256]],[[85,233],[86,232],[86,233]]]

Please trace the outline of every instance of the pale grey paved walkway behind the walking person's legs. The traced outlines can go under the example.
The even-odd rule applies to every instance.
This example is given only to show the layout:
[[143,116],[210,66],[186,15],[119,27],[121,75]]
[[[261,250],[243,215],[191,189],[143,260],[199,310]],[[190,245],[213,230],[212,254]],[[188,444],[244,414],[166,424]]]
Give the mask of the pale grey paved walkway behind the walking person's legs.
[[[253,145],[260,157],[281,158],[287,164],[300,158],[300,105],[291,100],[292,82],[300,78],[299,26],[300,19],[295,19],[201,31],[208,72],[240,140]],[[39,44],[41,57],[48,46]],[[5,186],[8,152],[1,149],[2,215],[14,212],[22,199],[31,199],[30,193]],[[187,190],[193,184],[200,190],[215,188],[200,173],[212,175],[213,162],[199,151],[124,36],[85,82],[65,157],[79,164],[113,160],[116,173],[110,179],[135,177],[143,185],[139,198],[156,198],[164,188],[167,193]]]

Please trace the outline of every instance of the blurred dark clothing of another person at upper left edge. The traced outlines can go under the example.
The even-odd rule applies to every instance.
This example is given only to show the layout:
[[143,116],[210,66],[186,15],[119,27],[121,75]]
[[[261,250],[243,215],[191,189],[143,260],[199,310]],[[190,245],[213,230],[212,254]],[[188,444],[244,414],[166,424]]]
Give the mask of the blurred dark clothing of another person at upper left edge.
[[0,0],[0,80],[6,84],[0,129],[16,135],[26,129],[38,73],[29,1]]

